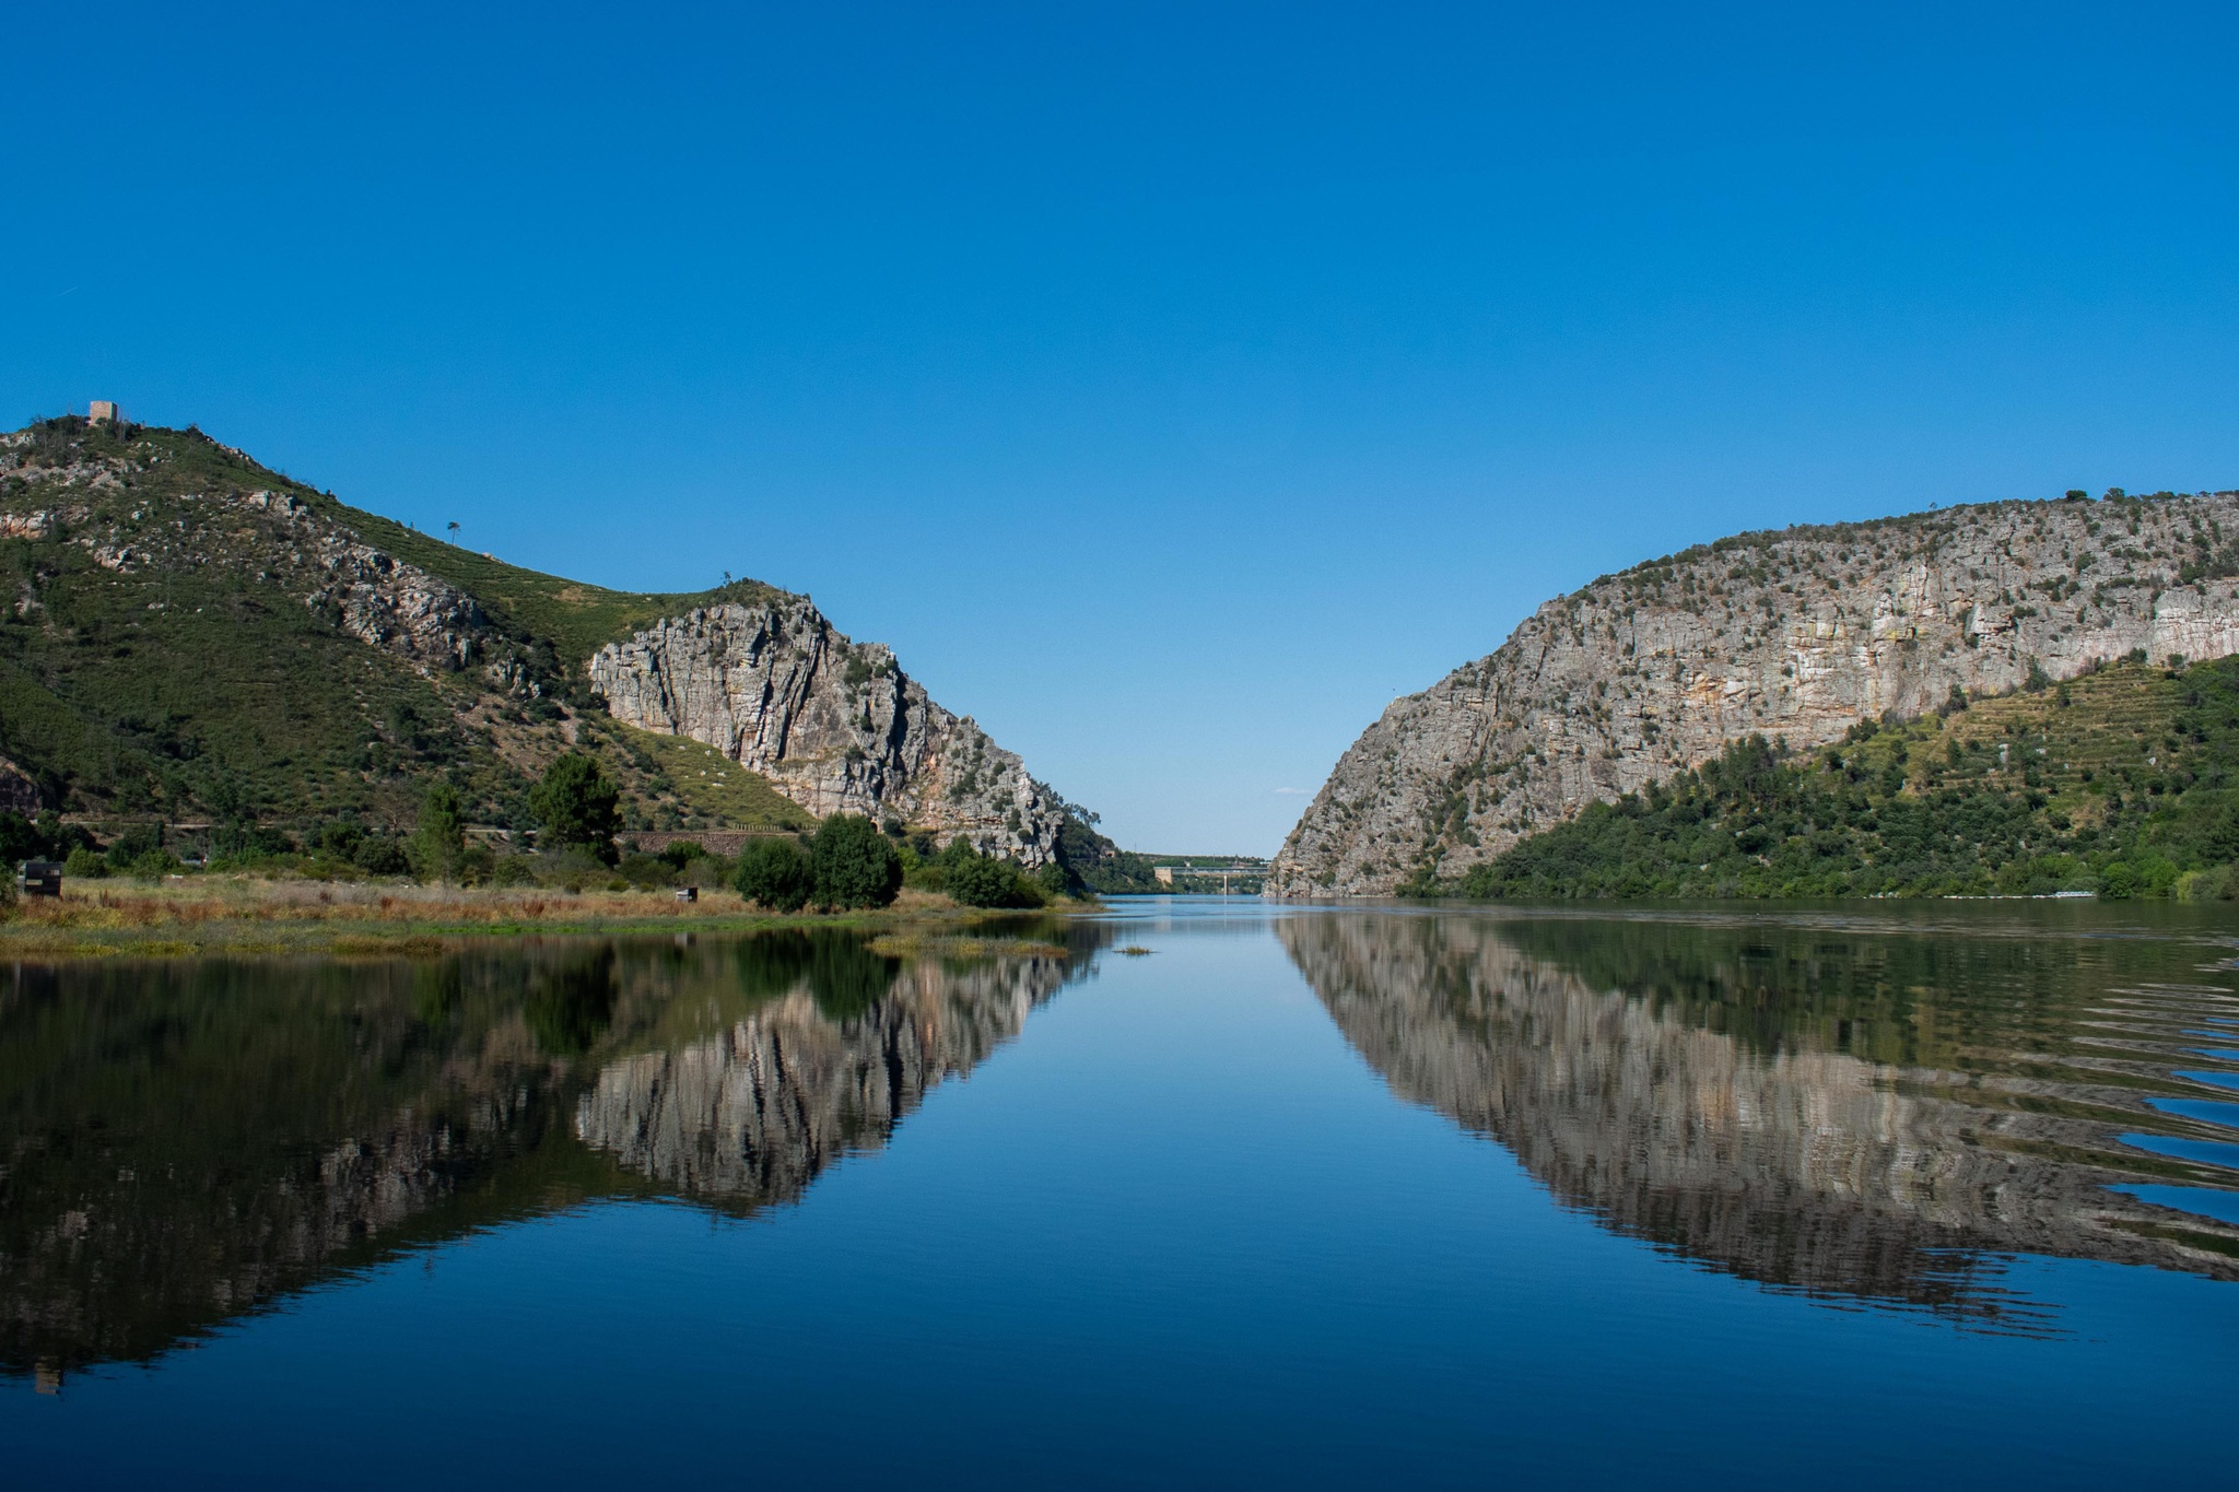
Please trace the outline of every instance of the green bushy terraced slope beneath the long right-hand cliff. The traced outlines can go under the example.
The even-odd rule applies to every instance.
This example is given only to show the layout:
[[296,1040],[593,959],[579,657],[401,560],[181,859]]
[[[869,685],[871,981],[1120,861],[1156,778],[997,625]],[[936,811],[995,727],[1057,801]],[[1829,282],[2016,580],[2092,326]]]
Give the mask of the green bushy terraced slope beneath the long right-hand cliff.
[[[2239,660],[2118,664],[1948,718],[1762,740],[1478,866],[1473,897],[2223,895]],[[1413,890],[1433,890],[1415,886]]]

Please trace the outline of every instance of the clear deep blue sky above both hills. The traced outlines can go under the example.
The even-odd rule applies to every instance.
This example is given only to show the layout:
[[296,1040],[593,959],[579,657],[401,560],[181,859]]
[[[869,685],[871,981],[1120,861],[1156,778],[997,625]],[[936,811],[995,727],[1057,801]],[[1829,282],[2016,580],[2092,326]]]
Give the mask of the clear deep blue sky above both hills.
[[1124,846],[1737,528],[2239,485],[2230,7],[43,7],[0,414],[891,642]]

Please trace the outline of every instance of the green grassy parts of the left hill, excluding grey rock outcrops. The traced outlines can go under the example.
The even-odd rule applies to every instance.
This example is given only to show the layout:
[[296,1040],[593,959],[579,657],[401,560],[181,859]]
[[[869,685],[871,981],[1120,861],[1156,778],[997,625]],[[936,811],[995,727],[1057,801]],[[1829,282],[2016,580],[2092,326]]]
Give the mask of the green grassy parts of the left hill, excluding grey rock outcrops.
[[[531,718],[479,671],[425,678],[403,660],[311,615],[271,579],[278,528],[184,494],[291,492],[322,517],[470,591],[551,682],[645,622],[708,604],[777,595],[757,582],[719,593],[629,595],[484,559],[338,503],[195,432],[54,423],[47,463],[130,459],[119,490],[9,479],[0,510],[87,506],[148,561],[99,566],[69,532],[0,539],[0,754],[43,778],[49,801],[103,816],[172,823],[249,816],[307,825],[338,814],[410,823],[432,776],[450,776],[477,819],[526,823],[528,776],[566,747],[566,725]],[[186,528],[179,528],[186,523]],[[242,526],[251,537],[242,539]],[[768,783],[701,778],[694,743],[667,747],[584,718],[645,823],[793,825],[804,814]],[[580,731],[578,731],[580,734]],[[631,731],[631,736],[636,736]],[[674,761],[669,761],[674,758]]]

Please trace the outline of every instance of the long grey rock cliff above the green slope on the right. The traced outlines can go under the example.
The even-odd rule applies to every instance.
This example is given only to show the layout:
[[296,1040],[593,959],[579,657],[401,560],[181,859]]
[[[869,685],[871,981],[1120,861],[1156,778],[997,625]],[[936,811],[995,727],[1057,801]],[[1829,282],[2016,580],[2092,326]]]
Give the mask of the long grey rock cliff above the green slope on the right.
[[1390,895],[1751,734],[1796,747],[2031,667],[2239,651],[2239,494],[1993,503],[1740,535],[1540,606],[1395,700],[1337,763],[1267,895]]

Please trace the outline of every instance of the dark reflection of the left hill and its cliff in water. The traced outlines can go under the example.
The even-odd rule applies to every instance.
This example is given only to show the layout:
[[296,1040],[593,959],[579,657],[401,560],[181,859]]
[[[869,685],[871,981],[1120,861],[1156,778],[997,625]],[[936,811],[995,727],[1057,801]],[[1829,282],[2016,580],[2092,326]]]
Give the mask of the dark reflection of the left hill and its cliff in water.
[[403,1248],[596,1197],[793,1201],[1014,1038],[1111,931],[0,980],[0,1371],[148,1360]]

